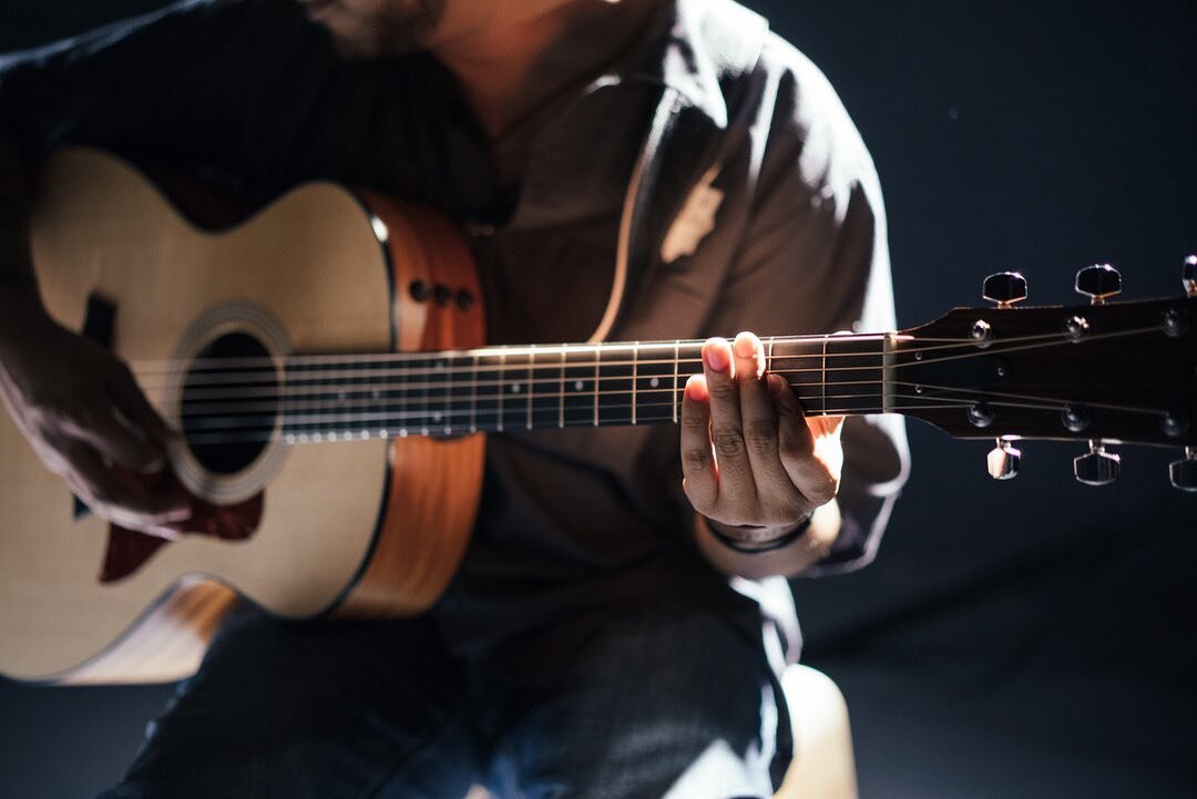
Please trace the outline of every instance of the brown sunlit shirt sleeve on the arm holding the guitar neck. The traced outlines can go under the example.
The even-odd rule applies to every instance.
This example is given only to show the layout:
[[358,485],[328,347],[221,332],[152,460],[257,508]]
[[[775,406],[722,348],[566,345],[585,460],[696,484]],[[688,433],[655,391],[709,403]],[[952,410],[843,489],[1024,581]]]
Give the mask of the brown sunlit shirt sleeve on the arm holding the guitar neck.
[[[873,160],[814,65],[776,38],[762,59],[771,77],[761,104],[768,111],[753,132],[762,153],[757,191],[717,303],[727,310],[711,329],[894,330],[885,206]],[[843,440],[844,525],[827,557],[804,575],[851,571],[873,559],[909,470],[899,416],[850,417]]]

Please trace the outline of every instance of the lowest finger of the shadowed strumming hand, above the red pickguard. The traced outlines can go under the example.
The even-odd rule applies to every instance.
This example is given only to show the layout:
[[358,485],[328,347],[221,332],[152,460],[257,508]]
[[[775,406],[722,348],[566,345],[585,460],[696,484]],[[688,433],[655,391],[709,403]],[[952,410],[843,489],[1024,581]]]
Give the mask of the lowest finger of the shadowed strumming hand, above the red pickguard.
[[150,530],[190,518],[189,501],[181,492],[150,493],[127,483],[89,446],[75,443],[65,453],[72,490],[97,514],[134,530]]

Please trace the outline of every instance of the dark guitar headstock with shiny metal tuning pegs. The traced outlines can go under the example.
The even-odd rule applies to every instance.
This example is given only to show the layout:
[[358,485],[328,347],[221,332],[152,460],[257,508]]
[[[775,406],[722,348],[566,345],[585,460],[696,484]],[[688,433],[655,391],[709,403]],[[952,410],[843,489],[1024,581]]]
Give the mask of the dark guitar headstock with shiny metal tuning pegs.
[[1112,444],[1175,446],[1177,488],[1197,490],[1197,257],[1186,295],[1110,303],[1122,288],[1106,264],[1077,273],[1088,305],[1016,307],[1017,273],[991,275],[996,307],[959,307],[904,330],[892,364],[893,410],[956,438],[996,439],[989,470],[1017,472],[1019,439],[1078,440],[1077,480],[1111,482]]

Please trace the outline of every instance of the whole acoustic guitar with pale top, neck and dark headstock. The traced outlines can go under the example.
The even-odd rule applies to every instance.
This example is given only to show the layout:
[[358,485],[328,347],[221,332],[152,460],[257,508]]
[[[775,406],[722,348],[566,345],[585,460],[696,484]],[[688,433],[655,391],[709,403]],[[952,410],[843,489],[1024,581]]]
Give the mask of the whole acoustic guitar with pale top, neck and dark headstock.
[[[193,496],[176,542],[87,513],[0,414],[0,672],[150,682],[196,667],[237,594],[280,616],[403,616],[464,551],[485,434],[674,423],[701,341],[484,346],[455,228],[370,191],[300,187],[237,227],[200,230],[140,172],[93,151],[48,164],[34,209],[42,295],[124,359],[182,431]],[[1090,267],[1076,307],[995,305],[903,331],[765,340],[810,414],[897,413],[996,440],[1076,439],[1080,480],[1111,443],[1179,447],[1197,489],[1197,261],[1186,294],[1108,303]]]

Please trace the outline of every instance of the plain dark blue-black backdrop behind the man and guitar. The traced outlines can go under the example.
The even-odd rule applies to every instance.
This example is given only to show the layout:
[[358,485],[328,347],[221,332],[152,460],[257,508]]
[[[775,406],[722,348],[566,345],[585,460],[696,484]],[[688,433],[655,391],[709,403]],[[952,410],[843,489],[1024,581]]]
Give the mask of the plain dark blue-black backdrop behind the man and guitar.
[[[0,51],[153,7],[0,0]],[[755,0],[831,77],[889,209],[903,327],[980,303],[1007,268],[1074,301],[1110,261],[1128,297],[1180,291],[1197,251],[1197,5]],[[911,427],[915,471],[879,561],[798,586],[806,658],[843,688],[862,795],[1197,795],[1197,496],[1174,452],[1071,477],[1077,446]],[[0,642],[2,645],[2,642]],[[0,795],[115,780],[169,687],[0,682]]]

